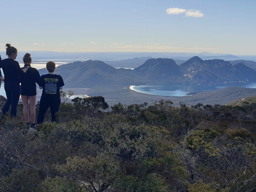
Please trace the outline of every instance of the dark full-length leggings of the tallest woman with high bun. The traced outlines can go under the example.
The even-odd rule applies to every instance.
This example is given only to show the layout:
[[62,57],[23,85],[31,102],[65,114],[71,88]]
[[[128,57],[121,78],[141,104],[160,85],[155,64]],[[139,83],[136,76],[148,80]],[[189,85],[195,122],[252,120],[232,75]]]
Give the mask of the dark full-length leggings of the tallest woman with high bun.
[[11,116],[16,116],[17,105],[20,100],[20,84],[15,81],[4,82],[4,90],[7,100],[4,104],[3,113],[8,112],[11,105]]

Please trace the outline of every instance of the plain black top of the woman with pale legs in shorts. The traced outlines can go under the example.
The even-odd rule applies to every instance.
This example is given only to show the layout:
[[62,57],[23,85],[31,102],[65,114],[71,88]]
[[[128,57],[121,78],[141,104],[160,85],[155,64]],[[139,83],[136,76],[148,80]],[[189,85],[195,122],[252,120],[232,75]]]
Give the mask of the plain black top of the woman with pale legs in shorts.
[[[29,65],[25,64],[25,67],[26,66]],[[36,95],[36,83],[39,83],[39,79],[40,74],[37,69],[29,66],[26,74],[21,77],[21,95]]]

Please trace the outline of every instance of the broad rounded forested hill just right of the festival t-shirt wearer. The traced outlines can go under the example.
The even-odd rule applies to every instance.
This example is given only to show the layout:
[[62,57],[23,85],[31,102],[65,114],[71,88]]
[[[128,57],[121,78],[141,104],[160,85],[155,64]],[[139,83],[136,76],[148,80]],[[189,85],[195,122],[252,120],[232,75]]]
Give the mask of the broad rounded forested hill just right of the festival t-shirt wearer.
[[[39,73],[44,74],[45,69],[40,69]],[[55,73],[62,76],[67,87],[103,87],[136,81],[132,70],[116,69],[98,60],[62,65],[57,67]]]

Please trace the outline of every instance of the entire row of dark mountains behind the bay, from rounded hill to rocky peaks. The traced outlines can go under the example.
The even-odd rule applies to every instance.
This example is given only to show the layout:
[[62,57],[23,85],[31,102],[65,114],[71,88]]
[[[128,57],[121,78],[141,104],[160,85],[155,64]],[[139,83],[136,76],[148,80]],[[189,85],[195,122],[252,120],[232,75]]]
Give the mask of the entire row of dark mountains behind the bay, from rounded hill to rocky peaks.
[[[39,70],[41,74],[45,69]],[[213,59],[202,60],[194,56],[177,65],[173,59],[148,59],[131,69],[116,69],[103,61],[88,60],[59,66],[56,70],[67,87],[102,87],[147,83],[223,84],[228,82],[254,82],[256,72],[241,62]]]

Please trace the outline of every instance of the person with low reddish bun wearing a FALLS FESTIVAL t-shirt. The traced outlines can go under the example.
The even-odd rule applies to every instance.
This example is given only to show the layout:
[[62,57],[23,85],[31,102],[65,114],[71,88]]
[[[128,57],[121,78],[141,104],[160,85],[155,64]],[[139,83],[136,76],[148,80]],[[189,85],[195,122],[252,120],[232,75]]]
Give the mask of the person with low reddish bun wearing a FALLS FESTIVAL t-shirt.
[[64,82],[60,75],[55,74],[56,65],[49,61],[46,64],[48,74],[42,75],[39,80],[39,88],[43,89],[40,99],[39,113],[37,116],[37,124],[44,121],[44,114],[50,107],[52,122],[56,122],[55,113],[59,111],[60,107],[60,89],[63,88]]

